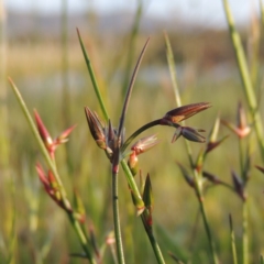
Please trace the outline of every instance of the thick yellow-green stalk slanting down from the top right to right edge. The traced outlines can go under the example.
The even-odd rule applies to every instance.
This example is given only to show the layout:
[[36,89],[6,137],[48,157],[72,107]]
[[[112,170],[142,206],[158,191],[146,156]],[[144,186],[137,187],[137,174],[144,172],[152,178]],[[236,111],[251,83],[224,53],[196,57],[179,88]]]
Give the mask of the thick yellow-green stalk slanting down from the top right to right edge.
[[251,110],[251,116],[252,116],[255,132],[256,132],[258,147],[261,151],[262,160],[264,161],[263,125],[262,125],[260,111],[257,110],[257,101],[256,101],[255,92],[253,89],[252,80],[250,77],[250,70],[246,64],[246,58],[245,58],[240,35],[234,26],[233,16],[232,16],[228,0],[223,0],[223,6],[226,10],[226,15],[229,24],[229,31],[230,31],[237,62],[239,65],[239,70],[240,70],[242,85],[244,88],[245,98],[248,100],[248,103]]

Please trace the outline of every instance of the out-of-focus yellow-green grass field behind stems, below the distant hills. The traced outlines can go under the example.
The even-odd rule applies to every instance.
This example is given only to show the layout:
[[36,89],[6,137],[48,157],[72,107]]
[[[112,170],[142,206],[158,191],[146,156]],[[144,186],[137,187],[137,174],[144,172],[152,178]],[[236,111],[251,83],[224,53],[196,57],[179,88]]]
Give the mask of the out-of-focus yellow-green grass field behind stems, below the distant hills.
[[[84,38],[86,40],[86,37]],[[144,38],[145,36],[140,36],[138,40],[139,45],[142,44],[140,42]],[[200,59],[202,56],[201,51],[204,51],[202,38],[197,38],[198,44],[196,47],[199,48],[197,54],[194,54],[197,61],[193,61],[191,58],[194,57],[190,58],[190,55],[187,54],[187,51],[189,51],[187,47],[193,48],[194,45],[194,42],[191,43],[189,40],[185,40],[185,42],[180,40],[179,43],[174,41],[174,38],[172,40],[173,43],[177,43],[178,45],[176,61],[180,58],[178,75],[183,103],[198,101],[210,101],[212,103],[213,107],[211,109],[187,121],[187,124],[206,129],[208,132],[218,114],[228,120],[235,120],[238,100],[243,99],[240,89],[241,84],[235,67],[231,66],[232,74],[229,70],[224,72],[224,67],[228,67],[228,65],[219,65],[223,67],[221,68],[223,77],[216,80],[215,76],[217,78],[217,75],[213,74],[216,68],[210,68],[210,62]],[[95,59],[92,63],[96,65],[98,77],[99,79],[103,79],[108,76],[109,72],[113,73],[114,54],[109,52],[107,48],[108,44],[98,45],[100,46],[99,48],[88,40],[86,40],[87,43],[90,44],[92,51],[91,59]],[[139,73],[129,107],[125,121],[127,135],[130,135],[130,133],[143,123],[161,117],[175,107],[168,69],[162,63],[165,59],[165,44],[163,45],[164,48],[161,48],[161,42],[155,44],[155,42],[151,41],[150,50]],[[186,46],[183,47],[183,45]],[[89,108],[95,110],[98,110],[98,106],[90,80],[88,79],[79,44],[73,42],[69,44],[68,50],[72,120],[78,124],[70,135],[70,155],[73,157],[74,174],[69,175],[67,166],[65,166],[64,146],[58,150],[57,166],[62,172],[63,180],[69,193],[74,186],[82,197],[88,219],[94,221],[100,244],[107,233],[112,230],[111,206],[109,202],[110,167],[105,158],[105,154],[98,151],[92,138],[88,133],[84,106],[89,106]],[[61,120],[62,82],[59,77],[59,51],[57,43],[52,42],[37,45],[13,43],[8,51],[9,75],[12,76],[23,92],[29,108],[37,108],[46,127],[54,136],[65,129],[62,128],[63,122]],[[222,56],[227,56],[227,54],[223,53]],[[152,67],[155,64],[155,58],[157,58],[158,64],[153,70]],[[204,67],[199,68],[199,65],[197,66],[198,63],[201,63]],[[122,90],[122,78],[120,78],[120,75],[122,75],[122,65],[121,62],[120,68],[117,68],[117,72],[110,78],[111,81],[108,82],[108,79],[103,79],[109,95],[108,106],[110,114],[113,117],[113,124],[117,124],[120,118],[121,101],[119,98]],[[150,68],[153,72],[145,72]],[[99,114],[101,116],[100,112]],[[36,263],[36,255],[46,241],[52,238],[50,242],[51,249],[44,263],[81,263],[79,260],[69,261],[68,253],[78,252],[79,245],[64,213],[57,210],[56,206],[42,189],[38,194],[40,207],[36,212],[38,228],[32,237],[32,231],[30,230],[30,206],[25,195],[29,186],[28,182],[23,180],[24,177],[22,177],[22,174],[26,174],[28,179],[32,180],[32,183],[35,182],[37,175],[34,170],[34,164],[40,158],[40,155],[35,142],[31,140],[30,130],[19,110],[19,106],[11,95],[9,97],[9,117],[12,157],[10,169],[15,177],[15,201],[18,208],[18,244],[15,257],[19,263]],[[201,219],[199,216],[197,218],[198,205],[193,191],[189,190],[175,164],[175,161],[187,164],[183,140],[179,139],[176,143],[170,144],[173,130],[156,128],[153,129],[153,133],[155,132],[158,133],[158,138],[163,139],[163,141],[152,152],[142,155],[140,167],[144,176],[146,173],[150,173],[152,177],[155,199],[154,226],[158,227],[157,240],[162,245],[166,260],[169,260],[166,256],[167,250],[176,251],[176,248],[183,248],[185,252],[193,249],[193,254],[196,256],[194,260],[197,260],[196,263],[207,263],[207,253],[205,252],[207,241],[201,228]],[[220,133],[224,135],[229,132],[224,128],[221,128]],[[191,147],[194,147],[194,152],[197,154],[202,144],[191,143]],[[254,151],[256,154],[253,157],[253,162],[257,163],[260,162],[257,147]],[[238,156],[237,139],[231,135],[208,157],[206,169],[217,174],[221,179],[231,183],[230,168],[239,167]],[[29,166],[26,172],[23,169],[24,163]],[[264,242],[261,232],[263,231],[262,184],[262,176],[257,170],[253,169],[249,191],[251,193],[250,220],[254,223],[254,229],[252,229],[252,233],[250,234],[254,238],[251,244],[252,255],[255,256],[254,260],[258,260],[261,245]],[[9,188],[0,188],[4,198],[1,205],[9,204],[7,201],[10,197],[8,194]],[[120,174],[120,204],[122,212],[121,222],[124,229],[125,255],[131,254],[131,257],[135,260],[134,263],[153,263],[153,253],[146,241],[140,219],[134,217],[130,193],[122,173]],[[232,193],[219,186],[208,190],[206,205],[220,258],[224,263],[229,263],[231,254],[228,216],[229,213],[232,215],[234,232],[240,235],[242,204]],[[8,241],[9,233],[4,216],[9,215],[12,208],[6,206],[2,208],[3,212],[0,219],[3,219],[3,221],[0,221],[0,232],[4,234],[4,240]],[[130,248],[128,249],[131,245],[131,241],[134,242],[134,254],[130,252]],[[175,243],[175,246],[172,246],[172,242]],[[241,252],[239,245],[238,252]],[[111,263],[110,254],[107,253],[107,255],[109,256],[109,263]],[[131,261],[128,260],[128,263],[131,263]]]

